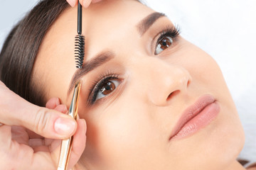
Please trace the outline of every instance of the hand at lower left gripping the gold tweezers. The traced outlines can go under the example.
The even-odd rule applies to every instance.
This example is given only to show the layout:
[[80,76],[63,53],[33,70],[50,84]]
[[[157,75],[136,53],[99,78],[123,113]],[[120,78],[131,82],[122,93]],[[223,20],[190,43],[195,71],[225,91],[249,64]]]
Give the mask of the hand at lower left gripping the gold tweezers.
[[58,98],[50,99],[46,106],[28,103],[0,81],[0,169],[55,170],[60,153],[60,140],[56,139],[74,133],[68,168],[77,164],[85,149],[85,120],[75,123],[63,114],[68,110]]

